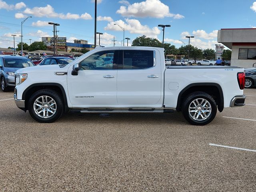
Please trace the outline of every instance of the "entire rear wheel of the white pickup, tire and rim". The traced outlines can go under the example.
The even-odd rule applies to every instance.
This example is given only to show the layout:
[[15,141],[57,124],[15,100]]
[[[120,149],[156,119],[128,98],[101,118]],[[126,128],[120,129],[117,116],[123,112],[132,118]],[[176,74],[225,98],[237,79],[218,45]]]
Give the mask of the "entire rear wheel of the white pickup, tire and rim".
[[182,105],[184,118],[192,125],[206,125],[215,118],[217,104],[206,92],[189,94]]

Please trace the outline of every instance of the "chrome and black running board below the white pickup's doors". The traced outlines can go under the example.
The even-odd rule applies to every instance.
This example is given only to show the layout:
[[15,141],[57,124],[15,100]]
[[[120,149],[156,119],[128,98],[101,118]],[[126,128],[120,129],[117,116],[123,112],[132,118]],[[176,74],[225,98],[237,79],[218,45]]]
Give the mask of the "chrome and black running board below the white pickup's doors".
[[172,109],[82,109],[70,110],[80,113],[173,113]]

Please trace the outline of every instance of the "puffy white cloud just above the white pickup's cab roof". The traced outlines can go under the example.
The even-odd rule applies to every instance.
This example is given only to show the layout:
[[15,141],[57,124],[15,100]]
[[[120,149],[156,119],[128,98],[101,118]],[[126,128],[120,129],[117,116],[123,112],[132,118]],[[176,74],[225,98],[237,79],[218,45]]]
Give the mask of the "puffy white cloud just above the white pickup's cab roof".
[[123,20],[118,20],[115,22],[110,22],[104,28],[104,30],[122,31],[118,25],[114,25],[114,23],[116,23],[122,26],[125,31],[129,31],[131,34],[140,34],[151,38],[157,38],[157,35],[161,32],[158,27],[149,28],[147,25],[142,25],[140,21],[136,19],[125,19],[125,21],[126,22]]

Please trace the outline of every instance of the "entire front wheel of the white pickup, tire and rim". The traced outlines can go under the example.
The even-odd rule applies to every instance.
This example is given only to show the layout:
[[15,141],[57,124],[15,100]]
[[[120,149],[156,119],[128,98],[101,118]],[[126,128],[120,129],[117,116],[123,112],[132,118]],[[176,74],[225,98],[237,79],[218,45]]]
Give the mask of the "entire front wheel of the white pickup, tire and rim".
[[28,111],[40,123],[56,121],[64,111],[62,98],[58,92],[43,89],[32,94],[28,100]]

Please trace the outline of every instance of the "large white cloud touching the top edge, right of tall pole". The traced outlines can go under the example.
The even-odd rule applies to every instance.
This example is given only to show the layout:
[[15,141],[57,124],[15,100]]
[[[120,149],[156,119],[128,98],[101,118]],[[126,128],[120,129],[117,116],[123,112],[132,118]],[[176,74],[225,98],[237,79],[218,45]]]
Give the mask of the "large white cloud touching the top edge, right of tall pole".
[[162,3],[160,0],[145,0],[126,6],[120,6],[119,10],[116,12],[122,16],[128,17],[173,17],[174,19],[184,18],[184,16],[180,14],[170,13],[169,7]]

